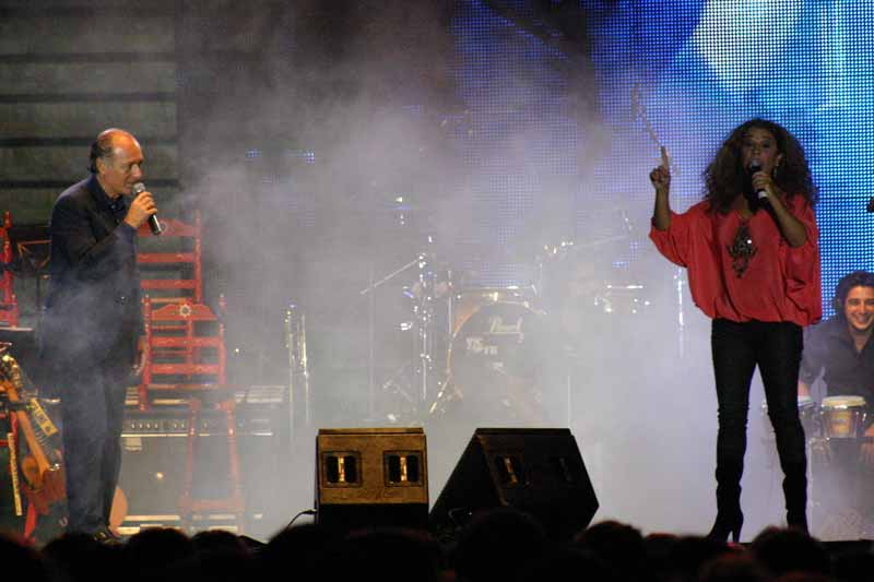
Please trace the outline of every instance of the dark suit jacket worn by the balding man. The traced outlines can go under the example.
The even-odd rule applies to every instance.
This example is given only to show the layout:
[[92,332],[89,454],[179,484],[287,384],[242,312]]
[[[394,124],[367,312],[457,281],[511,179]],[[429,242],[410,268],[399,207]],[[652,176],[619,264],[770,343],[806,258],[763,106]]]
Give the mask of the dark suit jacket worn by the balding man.
[[[142,332],[137,231],[92,176],[68,188],[51,211],[49,288],[39,325],[40,384],[107,358],[133,364]],[[118,360],[116,360],[118,363]]]

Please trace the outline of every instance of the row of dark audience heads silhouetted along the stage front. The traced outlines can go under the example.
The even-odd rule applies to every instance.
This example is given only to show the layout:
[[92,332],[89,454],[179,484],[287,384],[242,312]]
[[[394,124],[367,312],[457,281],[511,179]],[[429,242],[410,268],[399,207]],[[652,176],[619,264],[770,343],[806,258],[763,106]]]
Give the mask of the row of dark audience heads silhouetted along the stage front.
[[801,530],[767,527],[751,544],[651,533],[601,521],[555,539],[511,507],[474,513],[451,538],[424,530],[342,531],[318,523],[268,542],[211,530],[143,528],[121,543],[66,534],[37,547],[0,534],[0,563],[28,582],[861,582],[871,543],[831,553]]

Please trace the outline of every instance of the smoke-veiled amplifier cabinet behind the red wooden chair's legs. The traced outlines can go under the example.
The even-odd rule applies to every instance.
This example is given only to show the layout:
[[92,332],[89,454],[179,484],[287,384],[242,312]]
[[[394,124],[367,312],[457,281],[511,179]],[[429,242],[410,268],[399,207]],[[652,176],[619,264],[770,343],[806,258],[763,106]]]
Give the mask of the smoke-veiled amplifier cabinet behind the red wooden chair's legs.
[[[287,424],[261,405],[237,408],[237,447],[246,500],[247,535],[269,535],[291,511],[284,487],[291,474]],[[125,518],[131,531],[150,525],[179,525],[179,497],[186,470],[188,408],[126,411],[121,433]],[[218,499],[231,492],[224,414],[201,413],[196,444],[192,494]],[[227,516],[229,518],[229,516]],[[214,516],[216,525],[225,519]],[[279,521],[275,521],[279,520]]]

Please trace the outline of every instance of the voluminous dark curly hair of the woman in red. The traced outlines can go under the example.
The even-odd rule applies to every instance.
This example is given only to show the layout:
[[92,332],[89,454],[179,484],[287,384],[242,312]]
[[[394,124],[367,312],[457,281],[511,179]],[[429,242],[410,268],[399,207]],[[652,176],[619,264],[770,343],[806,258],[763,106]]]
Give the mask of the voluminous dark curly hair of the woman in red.
[[748,188],[749,178],[741,159],[741,146],[746,132],[753,128],[771,132],[777,140],[778,151],[783,155],[782,162],[773,170],[777,186],[789,198],[803,195],[811,205],[816,204],[818,190],[813,183],[811,168],[799,141],[779,123],[754,118],[731,132],[704,171],[704,198],[710,202],[710,210],[728,213],[737,193]]

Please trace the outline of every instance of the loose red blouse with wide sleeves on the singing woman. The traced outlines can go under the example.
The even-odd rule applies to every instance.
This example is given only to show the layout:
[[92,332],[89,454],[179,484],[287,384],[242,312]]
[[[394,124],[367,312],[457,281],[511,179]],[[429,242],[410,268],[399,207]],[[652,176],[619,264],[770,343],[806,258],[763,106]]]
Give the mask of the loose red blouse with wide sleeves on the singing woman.
[[671,226],[653,226],[649,236],[670,261],[686,268],[692,298],[708,317],[810,325],[823,316],[819,229],[804,197],[786,204],[804,225],[807,240],[790,247],[775,219],[756,212],[747,221],[755,253],[740,277],[729,252],[743,222],[736,211],[708,213],[709,202],[699,202],[683,214],[672,212]]

